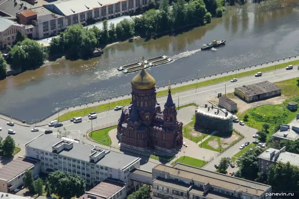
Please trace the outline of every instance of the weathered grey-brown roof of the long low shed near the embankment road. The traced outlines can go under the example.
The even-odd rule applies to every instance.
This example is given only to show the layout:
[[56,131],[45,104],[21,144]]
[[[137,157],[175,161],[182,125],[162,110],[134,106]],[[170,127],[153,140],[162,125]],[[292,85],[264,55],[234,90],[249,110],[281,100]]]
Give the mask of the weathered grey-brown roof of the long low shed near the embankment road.
[[259,82],[256,84],[250,84],[247,86],[243,85],[243,86],[235,88],[235,89],[241,91],[248,97],[281,90],[280,87],[278,87],[277,85],[275,85],[274,83],[271,83],[269,81],[263,81],[263,82]]

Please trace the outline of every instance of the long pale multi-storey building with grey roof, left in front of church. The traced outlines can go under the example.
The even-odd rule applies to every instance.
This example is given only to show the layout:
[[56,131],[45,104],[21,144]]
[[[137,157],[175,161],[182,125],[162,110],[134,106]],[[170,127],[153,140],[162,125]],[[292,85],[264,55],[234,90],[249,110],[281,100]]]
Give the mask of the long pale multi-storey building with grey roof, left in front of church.
[[41,172],[62,171],[85,179],[87,185],[96,185],[106,179],[133,188],[130,171],[140,168],[140,158],[128,156],[95,146],[62,140],[41,134],[25,144],[26,157],[40,160]]

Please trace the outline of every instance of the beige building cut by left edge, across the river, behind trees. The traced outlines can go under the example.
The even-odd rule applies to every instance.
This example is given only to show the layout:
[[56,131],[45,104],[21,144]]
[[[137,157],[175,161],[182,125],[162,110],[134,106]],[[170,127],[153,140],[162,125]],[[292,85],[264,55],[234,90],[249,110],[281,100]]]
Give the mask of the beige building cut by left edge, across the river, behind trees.
[[17,24],[12,20],[0,18],[0,48],[6,48],[15,43],[17,31],[25,33],[25,26]]

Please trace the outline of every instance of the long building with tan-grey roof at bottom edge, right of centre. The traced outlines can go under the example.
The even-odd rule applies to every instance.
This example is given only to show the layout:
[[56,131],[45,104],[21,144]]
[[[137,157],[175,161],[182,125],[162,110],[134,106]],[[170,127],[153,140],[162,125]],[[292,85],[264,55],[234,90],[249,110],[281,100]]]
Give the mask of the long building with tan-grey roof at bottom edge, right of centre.
[[183,164],[152,169],[153,199],[271,199],[271,186]]

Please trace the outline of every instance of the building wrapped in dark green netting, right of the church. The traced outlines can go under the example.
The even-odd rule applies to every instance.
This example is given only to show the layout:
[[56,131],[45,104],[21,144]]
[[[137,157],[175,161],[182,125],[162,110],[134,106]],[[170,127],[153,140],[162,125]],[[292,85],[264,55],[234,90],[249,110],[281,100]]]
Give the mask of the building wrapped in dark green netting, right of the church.
[[233,115],[225,109],[205,104],[195,110],[195,125],[213,131],[232,132]]

